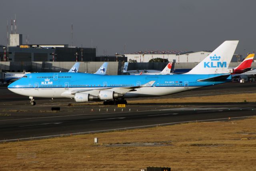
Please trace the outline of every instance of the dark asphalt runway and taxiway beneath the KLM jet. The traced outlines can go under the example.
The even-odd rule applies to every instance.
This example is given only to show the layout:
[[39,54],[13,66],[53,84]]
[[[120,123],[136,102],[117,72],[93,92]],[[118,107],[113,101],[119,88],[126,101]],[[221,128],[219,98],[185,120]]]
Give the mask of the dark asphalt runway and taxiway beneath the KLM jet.
[[[240,92],[240,90],[243,92],[244,90],[253,91],[256,89],[255,83],[247,85],[250,88],[246,88],[245,84],[228,83],[222,86],[218,85],[218,87],[206,87],[206,90],[202,88],[202,91],[199,89],[188,91],[186,94],[179,94],[181,94],[180,96],[198,96],[198,94],[204,96],[210,92],[229,93],[230,89],[233,93]],[[74,102],[73,99],[58,99],[54,102],[49,99],[39,99],[36,100],[36,106],[30,106],[28,97],[13,94],[3,87],[0,88],[0,92],[6,94],[0,101],[0,142],[146,128],[186,122],[228,121],[229,118],[234,120],[254,116],[256,111],[256,103],[142,104],[117,108],[116,105],[68,107],[67,103]],[[178,96],[179,94],[174,95]],[[60,111],[51,111],[52,106],[60,106]]]

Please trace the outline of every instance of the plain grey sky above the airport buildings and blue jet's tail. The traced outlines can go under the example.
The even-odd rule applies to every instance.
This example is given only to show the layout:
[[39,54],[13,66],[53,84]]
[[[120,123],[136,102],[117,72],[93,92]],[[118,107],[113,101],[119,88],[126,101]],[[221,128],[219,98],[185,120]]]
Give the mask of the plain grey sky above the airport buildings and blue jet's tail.
[[214,50],[239,40],[236,53],[256,50],[255,0],[4,0],[0,44],[16,21],[30,44],[98,47],[97,55],[141,50]]

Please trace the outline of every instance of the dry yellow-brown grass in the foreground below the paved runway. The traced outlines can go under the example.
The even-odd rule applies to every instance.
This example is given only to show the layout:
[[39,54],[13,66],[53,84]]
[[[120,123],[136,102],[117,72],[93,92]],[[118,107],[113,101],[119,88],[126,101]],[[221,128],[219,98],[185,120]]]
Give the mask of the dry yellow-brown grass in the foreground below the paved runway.
[[[0,144],[0,170],[172,171],[256,168],[256,118]],[[94,137],[100,145],[94,145]],[[142,145],[156,143],[156,145]]]

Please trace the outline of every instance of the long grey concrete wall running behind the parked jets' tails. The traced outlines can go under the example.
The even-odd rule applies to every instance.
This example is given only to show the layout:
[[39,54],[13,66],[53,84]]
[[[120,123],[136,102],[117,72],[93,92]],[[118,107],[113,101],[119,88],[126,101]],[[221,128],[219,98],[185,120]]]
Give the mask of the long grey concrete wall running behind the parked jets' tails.
[[[0,72],[67,72],[75,62],[0,62]],[[229,67],[237,67],[241,62],[230,63]],[[79,72],[95,73],[103,62],[80,62]],[[121,75],[124,62],[108,62],[108,75]],[[129,63],[128,70],[157,69],[162,70],[168,63]],[[173,63],[172,69],[192,69],[198,63]],[[252,63],[256,68],[256,63]]]

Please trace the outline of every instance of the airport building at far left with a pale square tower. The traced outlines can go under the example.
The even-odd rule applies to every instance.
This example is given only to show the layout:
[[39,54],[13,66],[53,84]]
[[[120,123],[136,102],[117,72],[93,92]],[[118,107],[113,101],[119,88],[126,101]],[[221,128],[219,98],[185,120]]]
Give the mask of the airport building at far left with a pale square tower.
[[22,34],[10,34],[8,46],[0,45],[0,61],[96,61],[96,48],[67,44],[22,44]]

